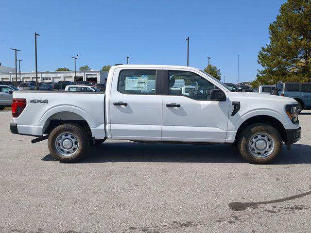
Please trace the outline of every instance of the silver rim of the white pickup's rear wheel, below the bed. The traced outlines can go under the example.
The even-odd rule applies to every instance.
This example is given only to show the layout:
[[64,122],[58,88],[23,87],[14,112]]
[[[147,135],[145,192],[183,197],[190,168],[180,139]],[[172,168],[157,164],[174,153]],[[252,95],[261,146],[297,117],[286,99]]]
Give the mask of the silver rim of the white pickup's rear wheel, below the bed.
[[61,133],[56,138],[55,147],[61,155],[71,156],[79,149],[79,142],[74,134]]

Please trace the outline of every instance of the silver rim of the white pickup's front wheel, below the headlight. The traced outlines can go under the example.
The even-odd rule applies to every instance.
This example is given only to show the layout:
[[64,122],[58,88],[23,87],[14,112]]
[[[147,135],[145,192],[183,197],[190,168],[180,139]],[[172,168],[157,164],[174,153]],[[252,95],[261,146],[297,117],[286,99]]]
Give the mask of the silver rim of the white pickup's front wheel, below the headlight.
[[252,155],[264,158],[272,153],[274,145],[274,140],[269,134],[257,133],[249,140],[248,148]]

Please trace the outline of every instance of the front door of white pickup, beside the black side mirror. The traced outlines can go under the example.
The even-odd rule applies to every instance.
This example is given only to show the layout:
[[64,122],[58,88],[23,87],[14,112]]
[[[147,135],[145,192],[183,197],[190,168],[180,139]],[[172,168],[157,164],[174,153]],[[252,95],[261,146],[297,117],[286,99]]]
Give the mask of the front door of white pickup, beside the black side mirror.
[[215,88],[197,73],[163,70],[162,140],[225,142],[229,100],[209,100]]

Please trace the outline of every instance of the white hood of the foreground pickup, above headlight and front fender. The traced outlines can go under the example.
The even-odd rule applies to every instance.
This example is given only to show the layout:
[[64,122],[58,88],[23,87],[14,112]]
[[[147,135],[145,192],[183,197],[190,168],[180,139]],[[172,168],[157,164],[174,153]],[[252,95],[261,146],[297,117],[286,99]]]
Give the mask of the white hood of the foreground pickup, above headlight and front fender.
[[[248,99],[248,100],[269,100],[269,101],[281,101],[281,102],[287,102],[288,104],[296,104],[297,101],[293,98],[283,97],[283,96],[274,96],[274,95],[268,95],[268,94],[260,94],[260,93],[254,93],[254,92],[230,92],[230,97],[235,98],[241,98],[241,99]],[[234,101],[234,100],[233,100]]]

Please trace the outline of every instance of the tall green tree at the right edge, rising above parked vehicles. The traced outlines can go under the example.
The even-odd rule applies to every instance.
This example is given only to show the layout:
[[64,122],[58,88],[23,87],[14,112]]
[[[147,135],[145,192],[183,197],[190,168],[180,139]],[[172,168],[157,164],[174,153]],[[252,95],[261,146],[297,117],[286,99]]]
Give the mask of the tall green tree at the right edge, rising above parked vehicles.
[[269,25],[270,44],[258,54],[254,86],[311,81],[311,1],[288,0]]

